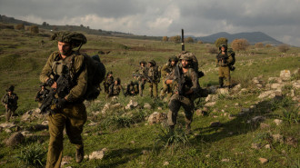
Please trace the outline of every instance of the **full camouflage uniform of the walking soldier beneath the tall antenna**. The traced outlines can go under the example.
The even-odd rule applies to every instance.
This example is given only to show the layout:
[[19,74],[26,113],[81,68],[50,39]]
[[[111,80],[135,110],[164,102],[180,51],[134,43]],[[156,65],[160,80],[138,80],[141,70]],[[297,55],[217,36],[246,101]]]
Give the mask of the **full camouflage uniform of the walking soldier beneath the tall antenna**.
[[[189,58],[181,58],[189,60]],[[182,67],[180,67],[180,70]],[[174,129],[174,126],[176,124],[176,118],[178,111],[181,106],[185,109],[185,128],[187,130],[190,130],[190,125],[193,121],[193,114],[194,114],[194,100],[193,95],[195,93],[199,92],[200,86],[198,83],[198,77],[195,73],[195,70],[193,68],[188,68],[188,71],[184,74],[182,74],[185,78],[185,84],[184,84],[184,93],[192,90],[193,94],[184,94],[179,95],[178,94],[178,83],[174,80],[175,79],[175,71],[173,71],[166,80],[173,80],[174,85],[174,93],[170,99],[170,102],[168,104],[169,106],[169,112],[167,114],[167,123],[170,126],[171,129]]]

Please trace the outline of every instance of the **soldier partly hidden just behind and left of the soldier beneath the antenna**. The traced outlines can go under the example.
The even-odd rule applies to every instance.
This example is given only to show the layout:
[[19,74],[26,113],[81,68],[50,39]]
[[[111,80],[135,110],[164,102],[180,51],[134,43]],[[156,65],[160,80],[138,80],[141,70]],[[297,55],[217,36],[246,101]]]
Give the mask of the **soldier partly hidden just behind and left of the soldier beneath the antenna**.
[[[163,76],[163,81],[165,81],[166,77],[173,72],[177,62],[178,62],[178,58],[176,56],[172,56],[169,58],[168,63],[162,67],[161,72]],[[163,88],[160,92],[160,98],[162,100],[164,99],[166,93],[167,93],[167,98],[170,98],[172,95],[171,86],[169,84],[163,83]]]

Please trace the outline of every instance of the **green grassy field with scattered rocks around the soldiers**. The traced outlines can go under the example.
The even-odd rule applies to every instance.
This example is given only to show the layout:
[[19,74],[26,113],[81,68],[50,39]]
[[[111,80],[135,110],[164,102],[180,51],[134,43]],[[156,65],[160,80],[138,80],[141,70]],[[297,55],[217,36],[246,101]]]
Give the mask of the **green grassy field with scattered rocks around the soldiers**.
[[[24,122],[21,116],[37,107],[35,94],[39,89],[39,74],[45,62],[53,51],[55,42],[49,41],[50,32],[31,35],[25,31],[0,29],[0,91],[10,84],[15,84],[15,93],[19,96],[19,107],[14,124],[21,131],[35,124],[41,124],[45,119],[35,119]],[[111,36],[86,35],[87,44],[82,52],[90,55],[99,51],[101,61],[106,71],[113,71],[115,77],[120,77],[122,84],[128,84],[133,72],[142,60],[154,59],[158,65],[166,63],[167,59],[180,53],[181,44],[162,41],[129,39]],[[42,43],[44,41],[45,43]],[[194,53],[199,61],[200,69],[205,76],[199,79],[202,87],[217,85],[218,76],[215,67],[215,54],[207,53],[207,44],[185,44],[185,50]],[[167,145],[172,138],[166,133],[164,124],[147,124],[145,120],[154,112],[167,113],[167,104],[148,96],[125,97],[120,95],[118,103],[125,106],[131,99],[142,106],[151,104],[151,109],[136,108],[125,111],[123,108],[108,110],[107,115],[95,114],[105,106],[105,94],[101,94],[95,102],[87,106],[88,121],[85,124],[83,138],[85,154],[106,148],[102,160],[87,160],[75,163],[71,159],[65,167],[299,167],[299,88],[294,88],[299,81],[300,48],[291,47],[286,53],[279,53],[275,46],[255,48],[236,52],[236,70],[232,72],[234,84],[241,84],[244,93],[231,91],[229,94],[217,96],[215,105],[208,108],[208,114],[194,114],[192,135],[183,133],[185,124],[183,109],[179,114],[174,143]],[[267,91],[266,84],[273,84],[269,77],[279,77],[282,70],[292,73],[291,79],[282,87],[282,99],[258,98]],[[264,87],[257,88],[253,78],[258,77]],[[293,83],[293,84],[292,84]],[[159,89],[162,84],[159,84]],[[291,90],[294,96],[291,96]],[[148,84],[145,85],[145,95],[148,94]],[[202,109],[205,99],[196,105]],[[243,109],[252,113],[239,115]],[[127,115],[127,114],[132,115]],[[5,123],[5,108],[0,107],[0,124]],[[263,116],[258,123],[251,122],[255,116]],[[282,124],[275,124],[280,119]],[[249,122],[250,121],[250,122]],[[212,127],[212,122],[221,126]],[[262,126],[262,124],[267,126]],[[15,133],[12,128],[12,133]],[[25,138],[25,142],[9,147],[5,144],[12,133],[0,130],[0,167],[34,167],[41,161],[44,165],[49,135],[47,130],[31,131],[34,136]],[[275,139],[279,134],[280,138]],[[288,140],[293,140],[291,141]],[[257,144],[259,147],[253,147]],[[268,146],[268,147],[265,147]],[[29,157],[29,151],[36,157]],[[64,156],[75,156],[75,146],[65,135]],[[259,158],[267,159],[261,163]]]

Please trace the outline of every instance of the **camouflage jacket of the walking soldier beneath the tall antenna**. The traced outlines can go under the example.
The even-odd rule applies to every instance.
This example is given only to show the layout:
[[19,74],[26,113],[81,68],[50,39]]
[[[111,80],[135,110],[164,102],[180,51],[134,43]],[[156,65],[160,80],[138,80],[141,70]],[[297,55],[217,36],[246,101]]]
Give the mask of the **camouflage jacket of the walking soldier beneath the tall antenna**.
[[[188,71],[185,74],[181,74],[185,78],[184,84],[184,93],[192,90],[193,94],[196,94],[200,91],[200,85],[198,82],[197,74],[193,68],[188,68]],[[175,79],[175,70],[167,76],[166,80],[174,80]],[[173,82],[174,91],[178,91],[178,83],[176,81]]]

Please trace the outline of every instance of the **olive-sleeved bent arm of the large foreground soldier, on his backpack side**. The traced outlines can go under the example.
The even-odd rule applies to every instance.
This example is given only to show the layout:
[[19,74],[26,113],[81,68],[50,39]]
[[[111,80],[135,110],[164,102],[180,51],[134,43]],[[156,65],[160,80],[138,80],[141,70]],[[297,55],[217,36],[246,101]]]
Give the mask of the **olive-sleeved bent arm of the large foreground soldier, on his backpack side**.
[[[78,73],[84,63],[84,56],[77,55],[75,56],[74,64],[75,64],[75,72]],[[67,101],[75,101],[76,99],[82,97],[85,94],[87,87],[87,68],[85,65],[85,69],[78,75],[77,84],[70,90],[70,93],[65,96]]]

